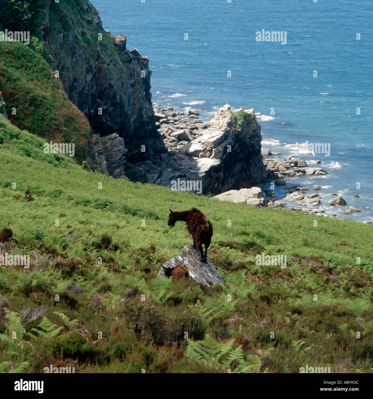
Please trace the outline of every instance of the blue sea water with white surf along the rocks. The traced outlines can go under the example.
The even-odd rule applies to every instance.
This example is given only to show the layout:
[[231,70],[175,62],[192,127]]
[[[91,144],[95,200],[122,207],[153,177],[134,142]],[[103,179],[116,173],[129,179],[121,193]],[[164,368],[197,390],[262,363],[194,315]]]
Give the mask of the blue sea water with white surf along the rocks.
[[[289,184],[322,186],[325,215],[373,220],[371,0],[91,2],[105,30],[150,59],[154,103],[198,108],[204,120],[226,103],[254,108],[264,148],[328,171]],[[286,44],[256,41],[262,29],[286,32]],[[328,143],[330,156],[290,146],[306,141]],[[347,207],[329,207],[332,193]],[[342,214],[348,205],[363,212]]]

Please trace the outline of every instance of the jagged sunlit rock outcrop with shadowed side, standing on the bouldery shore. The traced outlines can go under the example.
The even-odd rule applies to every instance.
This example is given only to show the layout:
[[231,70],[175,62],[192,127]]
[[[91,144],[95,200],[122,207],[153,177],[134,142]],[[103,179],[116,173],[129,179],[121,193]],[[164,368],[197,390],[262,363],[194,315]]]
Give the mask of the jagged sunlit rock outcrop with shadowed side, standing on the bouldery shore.
[[[193,135],[186,130],[190,140]],[[172,127],[170,132],[173,132]],[[183,144],[180,151],[170,150],[160,159],[136,164],[139,168],[136,175],[142,170],[144,182],[174,190],[183,190],[182,182],[186,185],[199,182],[199,194],[220,194],[254,185],[267,177],[261,157],[261,139],[261,126],[253,109],[232,112],[226,105],[209,121],[208,127],[198,130],[197,138]],[[178,141],[176,137],[175,140]]]

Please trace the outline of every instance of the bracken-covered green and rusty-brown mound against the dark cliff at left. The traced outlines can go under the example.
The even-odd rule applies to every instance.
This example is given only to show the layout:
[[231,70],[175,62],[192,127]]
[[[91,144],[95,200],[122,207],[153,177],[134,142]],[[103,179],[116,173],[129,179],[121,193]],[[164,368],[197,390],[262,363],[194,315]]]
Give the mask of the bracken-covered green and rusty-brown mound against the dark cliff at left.
[[85,160],[88,120],[69,101],[48,64],[30,47],[0,42],[0,90],[13,124],[43,137],[44,142],[75,143],[76,159]]

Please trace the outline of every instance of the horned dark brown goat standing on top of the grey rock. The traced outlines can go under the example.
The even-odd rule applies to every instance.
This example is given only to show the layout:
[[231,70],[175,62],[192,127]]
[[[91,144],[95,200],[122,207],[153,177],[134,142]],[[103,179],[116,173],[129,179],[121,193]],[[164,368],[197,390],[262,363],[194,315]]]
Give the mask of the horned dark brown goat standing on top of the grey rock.
[[[174,212],[174,205],[170,207],[168,225],[174,227],[178,220],[185,221],[187,224],[187,229],[193,237],[193,247],[197,251],[201,251],[201,262],[206,262],[207,248],[211,243],[212,237],[211,222],[198,209],[193,208],[190,211]],[[202,244],[205,244],[205,256],[203,256]]]

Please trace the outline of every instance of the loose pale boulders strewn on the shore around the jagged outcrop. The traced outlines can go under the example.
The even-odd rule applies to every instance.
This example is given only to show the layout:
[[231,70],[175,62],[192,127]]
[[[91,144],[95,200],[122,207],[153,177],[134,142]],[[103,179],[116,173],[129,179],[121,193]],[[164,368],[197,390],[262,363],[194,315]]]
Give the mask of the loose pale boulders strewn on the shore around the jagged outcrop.
[[[174,107],[163,108],[158,104],[157,107],[154,107],[154,111],[156,127],[162,135],[169,153],[191,153],[200,156],[201,152],[194,152],[193,148],[196,142],[199,141],[198,139],[205,134],[205,130],[209,127],[209,121],[199,119],[198,109],[186,108],[175,111]],[[254,115],[253,110],[246,110],[245,112],[253,113]],[[205,155],[207,156],[208,154]],[[310,192],[309,188],[297,184],[289,184],[285,179],[293,181],[294,178],[302,176],[310,176],[311,179],[314,179],[316,176],[326,176],[328,172],[320,167],[308,166],[305,160],[294,158],[293,156],[278,158],[278,155],[280,155],[279,152],[270,151],[269,148],[261,148],[262,163],[266,169],[266,178],[264,181],[269,183],[269,185],[284,186],[287,192],[282,199],[278,200],[273,190],[264,188],[264,182],[255,185],[243,182],[241,188],[221,192],[213,198],[233,202],[245,202],[254,206],[279,207],[292,211],[301,210],[306,214],[325,213],[324,209],[318,209],[322,205],[322,197],[316,191],[321,190],[321,186],[314,184],[312,187],[314,192]],[[322,164],[320,160],[314,160],[314,163]],[[337,194],[333,195],[336,196],[336,199],[328,202],[326,206],[347,205],[345,199]],[[283,201],[294,202],[299,207],[286,205],[286,202]],[[349,206],[348,209],[343,211],[346,214],[354,212],[361,212],[361,209]],[[337,215],[333,213],[332,216]]]

